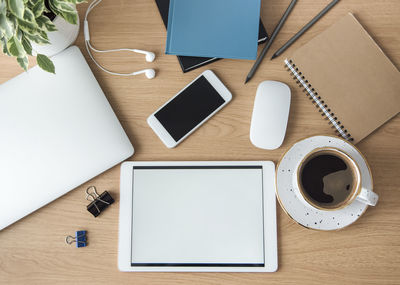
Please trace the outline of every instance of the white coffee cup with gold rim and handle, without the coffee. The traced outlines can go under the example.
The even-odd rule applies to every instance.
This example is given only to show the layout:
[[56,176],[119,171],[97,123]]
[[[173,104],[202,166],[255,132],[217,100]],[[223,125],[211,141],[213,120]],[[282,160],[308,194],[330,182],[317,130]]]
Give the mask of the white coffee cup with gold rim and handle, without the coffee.
[[[321,154],[330,154],[333,156],[336,156],[340,158],[342,161],[346,163],[346,165],[349,166],[349,170],[352,173],[352,188],[348,190],[346,193],[342,193],[342,196],[345,197],[343,201],[341,201],[338,204],[329,206],[328,204],[321,203],[320,201],[314,200],[309,193],[307,193],[304,185],[302,185],[302,171],[304,166],[307,164],[307,162],[310,161],[310,159],[317,157]],[[331,178],[331,180],[334,177]],[[307,207],[311,207],[313,209],[318,209],[318,210],[324,210],[324,211],[333,211],[333,210],[338,210],[341,208],[344,208],[348,205],[350,205],[354,200],[357,200],[361,203],[370,205],[370,206],[375,206],[376,203],[378,202],[379,196],[373,192],[372,189],[368,189],[363,187],[361,183],[361,170],[357,162],[348,154],[343,152],[342,150],[339,150],[334,147],[321,147],[321,148],[316,148],[311,150],[309,153],[307,153],[304,158],[299,161],[299,163],[296,165],[296,169],[293,173],[293,185],[294,187],[294,193],[298,197],[298,199]],[[342,191],[342,190],[340,190]],[[344,190],[343,190],[344,191]],[[343,192],[342,191],[342,192]]]

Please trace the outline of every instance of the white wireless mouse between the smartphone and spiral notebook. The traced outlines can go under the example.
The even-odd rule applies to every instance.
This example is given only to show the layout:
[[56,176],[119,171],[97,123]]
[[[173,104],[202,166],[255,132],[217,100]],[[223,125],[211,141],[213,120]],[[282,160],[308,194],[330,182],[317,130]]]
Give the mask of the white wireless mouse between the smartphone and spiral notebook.
[[251,118],[250,141],[262,149],[277,149],[283,143],[290,109],[290,88],[278,81],[258,85]]

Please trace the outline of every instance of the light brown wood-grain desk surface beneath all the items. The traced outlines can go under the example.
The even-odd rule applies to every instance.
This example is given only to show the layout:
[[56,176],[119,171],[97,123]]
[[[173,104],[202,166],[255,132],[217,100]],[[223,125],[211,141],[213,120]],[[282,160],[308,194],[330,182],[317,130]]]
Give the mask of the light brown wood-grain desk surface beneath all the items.
[[[264,0],[262,19],[269,33],[289,0]],[[270,54],[310,20],[328,0],[302,0],[289,17]],[[81,23],[87,4],[79,7]],[[98,56],[113,70],[154,67],[157,77],[121,78],[100,71],[81,48],[96,78],[130,137],[135,160],[273,160],[292,143],[330,127],[295,86],[283,68],[284,56],[306,43],[348,11],[400,67],[400,2],[341,1],[289,51],[264,60],[253,80],[244,85],[252,62],[221,60],[183,74],[175,56],[164,54],[166,31],[152,0],[105,0],[90,16],[93,44],[98,48],[134,47],[157,54],[148,64],[141,55]],[[82,30],[82,27],[81,27]],[[127,57],[123,57],[123,56]],[[0,56],[0,83],[19,74],[13,59]],[[233,101],[176,149],[167,149],[147,126],[147,116],[205,69],[212,69],[234,95]],[[292,89],[292,107],[285,142],[263,151],[249,141],[250,117],[257,85],[279,80]],[[400,91],[400,90],[399,90]],[[399,94],[400,95],[400,94]],[[0,94],[1,96],[1,94]],[[51,118],[50,118],[51,119]],[[2,134],[4,135],[4,134]],[[95,141],[94,141],[95,143]],[[103,173],[0,232],[1,284],[399,284],[400,282],[400,116],[358,144],[371,164],[376,208],[369,208],[354,225],[337,232],[316,232],[291,221],[278,206],[279,270],[273,274],[121,273],[117,269],[119,167]],[[0,158],[1,159],[1,158]],[[27,170],[29,171],[29,170]],[[16,182],[18,183],[18,182]],[[99,218],[87,211],[85,189],[110,190],[117,202]],[[3,199],[3,197],[2,197]],[[2,200],[2,203],[7,203]],[[64,243],[75,230],[88,230],[87,248]]]

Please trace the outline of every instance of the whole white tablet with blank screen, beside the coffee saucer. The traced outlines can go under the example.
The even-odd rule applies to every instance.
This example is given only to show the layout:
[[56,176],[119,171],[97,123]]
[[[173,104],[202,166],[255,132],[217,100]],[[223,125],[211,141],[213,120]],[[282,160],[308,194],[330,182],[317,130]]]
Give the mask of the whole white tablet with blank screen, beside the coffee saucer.
[[118,267],[276,271],[274,164],[123,163]]

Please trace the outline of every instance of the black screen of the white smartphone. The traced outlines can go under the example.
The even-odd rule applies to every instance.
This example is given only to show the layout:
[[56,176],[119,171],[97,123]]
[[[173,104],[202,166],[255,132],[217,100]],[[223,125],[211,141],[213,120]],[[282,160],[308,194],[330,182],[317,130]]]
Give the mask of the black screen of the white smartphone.
[[221,95],[201,76],[154,116],[179,141],[224,103]]

